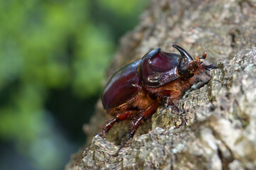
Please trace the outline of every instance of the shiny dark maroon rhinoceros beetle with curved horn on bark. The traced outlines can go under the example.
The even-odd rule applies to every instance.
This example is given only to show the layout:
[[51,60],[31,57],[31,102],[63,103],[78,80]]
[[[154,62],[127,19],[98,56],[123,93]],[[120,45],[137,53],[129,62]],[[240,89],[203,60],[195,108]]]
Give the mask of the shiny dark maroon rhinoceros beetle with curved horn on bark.
[[155,113],[157,107],[165,101],[179,112],[174,103],[194,84],[195,75],[216,68],[201,62],[201,59],[206,58],[206,52],[194,60],[182,47],[172,46],[180,55],[157,48],[141,60],[118,70],[106,84],[101,100],[106,112],[114,118],[106,123],[98,135],[106,135],[120,120],[133,119],[133,130],[128,133],[115,156],[133,137],[143,119]]

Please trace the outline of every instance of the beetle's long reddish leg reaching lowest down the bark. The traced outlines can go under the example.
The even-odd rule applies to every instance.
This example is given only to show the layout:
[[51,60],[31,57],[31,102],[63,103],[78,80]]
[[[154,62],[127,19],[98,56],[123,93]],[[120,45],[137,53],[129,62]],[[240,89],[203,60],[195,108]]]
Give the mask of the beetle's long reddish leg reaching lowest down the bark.
[[155,101],[155,103],[152,103],[152,105],[149,108],[147,108],[145,111],[143,111],[143,113],[140,114],[140,117],[136,119],[135,122],[133,123],[133,130],[128,133],[128,137],[126,138],[126,141],[123,142],[123,145],[121,145],[121,147],[119,147],[119,149],[116,151],[116,154],[113,155],[114,157],[118,156],[118,153],[121,151],[121,149],[123,149],[123,147],[130,140],[130,138],[133,137],[143,118],[146,118],[152,115],[153,113],[155,113],[158,106],[159,106],[159,102]]

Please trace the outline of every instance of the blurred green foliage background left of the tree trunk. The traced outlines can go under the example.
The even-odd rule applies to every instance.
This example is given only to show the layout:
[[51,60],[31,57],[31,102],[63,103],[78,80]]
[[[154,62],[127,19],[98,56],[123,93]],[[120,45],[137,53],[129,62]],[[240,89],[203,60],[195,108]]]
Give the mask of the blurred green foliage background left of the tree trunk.
[[0,1],[0,169],[63,169],[147,0]]

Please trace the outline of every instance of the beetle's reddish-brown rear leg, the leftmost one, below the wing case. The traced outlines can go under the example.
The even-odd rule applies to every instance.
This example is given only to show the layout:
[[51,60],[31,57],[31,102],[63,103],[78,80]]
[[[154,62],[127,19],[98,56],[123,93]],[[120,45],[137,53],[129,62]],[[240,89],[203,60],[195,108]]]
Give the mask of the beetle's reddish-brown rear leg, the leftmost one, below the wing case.
[[106,125],[104,126],[103,130],[95,136],[102,137],[106,135],[115,123],[117,123],[119,120],[126,120],[130,118],[130,115],[133,115],[134,113],[136,113],[136,111],[126,111],[124,113],[119,113],[118,115],[116,115],[116,118],[109,120],[109,122],[106,123]]

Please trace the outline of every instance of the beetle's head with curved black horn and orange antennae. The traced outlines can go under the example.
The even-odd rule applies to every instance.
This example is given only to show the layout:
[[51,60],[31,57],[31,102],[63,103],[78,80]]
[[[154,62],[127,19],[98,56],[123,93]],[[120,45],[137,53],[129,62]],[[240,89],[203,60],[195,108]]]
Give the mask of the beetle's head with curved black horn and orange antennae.
[[172,45],[172,47],[179,50],[179,53],[182,56],[177,64],[177,74],[179,74],[181,77],[189,79],[190,77],[193,77],[196,71],[199,69],[211,70],[216,68],[213,67],[212,64],[205,65],[200,61],[200,59],[206,58],[206,52],[204,52],[202,57],[196,57],[194,60],[191,55],[189,55],[189,53],[182,47],[179,47],[178,45]]

